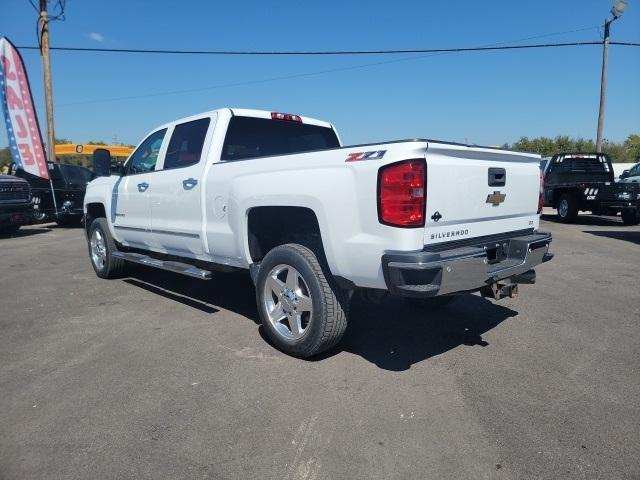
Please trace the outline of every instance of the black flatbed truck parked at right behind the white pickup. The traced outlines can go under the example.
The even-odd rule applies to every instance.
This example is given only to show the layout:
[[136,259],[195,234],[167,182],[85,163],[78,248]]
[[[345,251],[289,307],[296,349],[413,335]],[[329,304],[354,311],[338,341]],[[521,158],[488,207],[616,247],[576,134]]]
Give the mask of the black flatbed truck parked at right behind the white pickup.
[[640,223],[640,185],[616,183],[604,153],[560,153],[544,170],[544,205],[558,210],[560,221],[575,221],[580,211],[620,213],[625,225]]

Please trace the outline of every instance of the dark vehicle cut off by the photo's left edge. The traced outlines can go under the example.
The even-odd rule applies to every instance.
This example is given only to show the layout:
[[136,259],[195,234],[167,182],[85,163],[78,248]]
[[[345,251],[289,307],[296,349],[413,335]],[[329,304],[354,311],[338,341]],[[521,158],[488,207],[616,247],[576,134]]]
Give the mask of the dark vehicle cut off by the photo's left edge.
[[31,223],[29,183],[11,175],[0,175],[0,235],[11,235]]

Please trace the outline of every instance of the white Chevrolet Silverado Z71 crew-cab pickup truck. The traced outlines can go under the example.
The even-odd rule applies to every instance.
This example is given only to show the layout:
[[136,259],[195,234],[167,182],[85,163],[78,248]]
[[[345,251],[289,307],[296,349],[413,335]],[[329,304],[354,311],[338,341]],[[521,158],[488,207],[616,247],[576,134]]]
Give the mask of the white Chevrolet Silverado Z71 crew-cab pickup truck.
[[[162,125],[84,200],[102,278],[127,262],[202,280],[248,269],[283,351],[335,345],[356,290],[499,299],[550,260],[538,155],[432,140],[344,147],[333,125],[220,109]],[[435,298],[434,298],[435,297]]]

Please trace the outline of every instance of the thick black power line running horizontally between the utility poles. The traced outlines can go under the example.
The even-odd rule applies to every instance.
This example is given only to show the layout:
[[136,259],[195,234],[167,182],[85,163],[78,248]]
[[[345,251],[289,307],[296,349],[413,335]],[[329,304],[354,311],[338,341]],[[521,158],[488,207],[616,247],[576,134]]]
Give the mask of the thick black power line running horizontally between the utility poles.
[[[407,53],[460,53],[483,52],[492,50],[524,50],[532,48],[561,48],[585,45],[602,45],[602,41],[534,43],[527,45],[502,45],[456,48],[408,48],[395,50],[158,50],[142,48],[104,48],[104,47],[51,47],[51,50],[64,52],[101,52],[101,53],[145,53],[163,55],[255,55],[255,56],[315,56],[315,55],[398,55]],[[640,43],[610,42],[610,45],[640,46]],[[22,50],[37,50],[37,46],[18,46]]]

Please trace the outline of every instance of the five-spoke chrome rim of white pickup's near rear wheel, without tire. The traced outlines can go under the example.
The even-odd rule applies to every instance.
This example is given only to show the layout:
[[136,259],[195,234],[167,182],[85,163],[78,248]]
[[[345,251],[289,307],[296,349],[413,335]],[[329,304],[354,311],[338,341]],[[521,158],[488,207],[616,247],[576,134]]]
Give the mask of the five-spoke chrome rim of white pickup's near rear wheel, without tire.
[[274,330],[285,340],[297,340],[311,325],[311,290],[300,272],[290,265],[277,265],[267,275],[264,308]]

